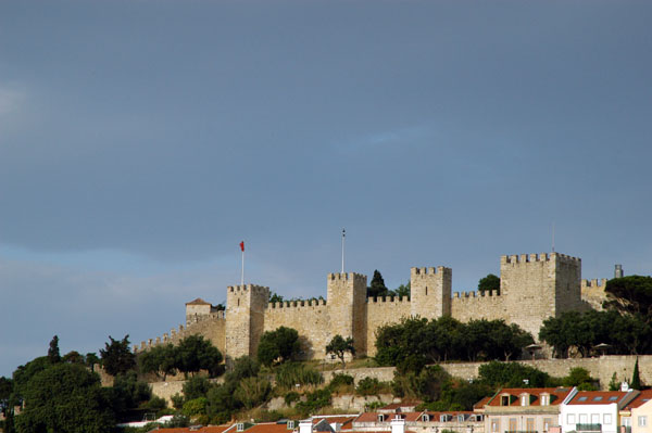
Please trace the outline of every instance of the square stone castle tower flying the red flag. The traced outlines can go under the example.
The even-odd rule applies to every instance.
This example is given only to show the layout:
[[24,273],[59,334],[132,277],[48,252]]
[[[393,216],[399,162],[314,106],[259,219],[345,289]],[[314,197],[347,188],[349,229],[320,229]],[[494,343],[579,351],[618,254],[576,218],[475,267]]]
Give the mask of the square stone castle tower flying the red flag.
[[225,352],[227,360],[255,356],[265,324],[269,288],[235,285],[226,290]]

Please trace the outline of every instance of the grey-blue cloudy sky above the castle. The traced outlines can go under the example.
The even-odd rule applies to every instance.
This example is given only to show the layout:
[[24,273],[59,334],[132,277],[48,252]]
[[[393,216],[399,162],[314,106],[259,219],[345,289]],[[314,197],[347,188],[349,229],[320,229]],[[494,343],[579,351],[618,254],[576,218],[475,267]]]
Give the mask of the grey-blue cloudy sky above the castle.
[[652,3],[3,1],[0,375],[239,282],[650,273]]

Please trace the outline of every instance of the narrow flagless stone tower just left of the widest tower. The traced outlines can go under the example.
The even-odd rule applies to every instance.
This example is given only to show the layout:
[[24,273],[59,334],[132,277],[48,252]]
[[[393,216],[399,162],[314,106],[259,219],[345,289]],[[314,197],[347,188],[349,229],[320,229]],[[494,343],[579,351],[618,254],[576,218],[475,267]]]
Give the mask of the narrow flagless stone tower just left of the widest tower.
[[451,314],[451,268],[410,269],[410,311],[427,319]]

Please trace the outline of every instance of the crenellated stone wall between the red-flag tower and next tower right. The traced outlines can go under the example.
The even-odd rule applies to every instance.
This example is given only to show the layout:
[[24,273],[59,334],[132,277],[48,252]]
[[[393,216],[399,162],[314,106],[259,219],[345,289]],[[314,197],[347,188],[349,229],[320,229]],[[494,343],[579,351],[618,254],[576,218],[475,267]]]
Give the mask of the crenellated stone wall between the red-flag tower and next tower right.
[[330,319],[323,300],[269,303],[265,310],[264,331],[287,327],[299,332],[302,351],[306,358],[324,358],[330,342]]

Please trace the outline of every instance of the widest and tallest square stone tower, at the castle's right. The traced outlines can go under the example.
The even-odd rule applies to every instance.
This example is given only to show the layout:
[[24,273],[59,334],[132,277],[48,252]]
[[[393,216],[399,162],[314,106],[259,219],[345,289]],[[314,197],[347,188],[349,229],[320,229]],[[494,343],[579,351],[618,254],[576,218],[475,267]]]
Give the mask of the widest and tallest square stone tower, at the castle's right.
[[543,320],[581,310],[581,259],[560,253],[522,254],[500,259],[500,293],[505,321],[539,339]]

